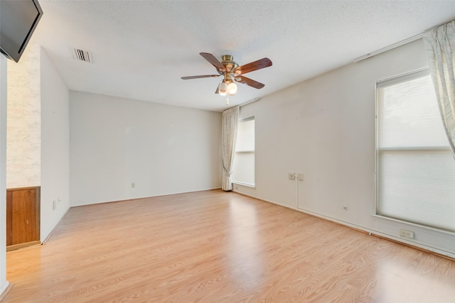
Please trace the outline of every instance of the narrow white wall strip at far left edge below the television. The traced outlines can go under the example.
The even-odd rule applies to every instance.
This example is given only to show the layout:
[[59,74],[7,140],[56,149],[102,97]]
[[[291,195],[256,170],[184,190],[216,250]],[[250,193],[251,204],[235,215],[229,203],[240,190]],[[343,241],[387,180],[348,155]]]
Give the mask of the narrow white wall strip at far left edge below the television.
[[0,55],[0,295],[6,290],[6,57]]

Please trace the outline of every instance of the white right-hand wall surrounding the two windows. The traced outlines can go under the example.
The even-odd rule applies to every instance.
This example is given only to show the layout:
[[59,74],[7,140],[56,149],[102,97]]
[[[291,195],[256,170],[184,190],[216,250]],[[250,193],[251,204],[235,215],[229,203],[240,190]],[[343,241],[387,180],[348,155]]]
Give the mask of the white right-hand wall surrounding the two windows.
[[[235,191],[397,240],[409,228],[415,245],[454,256],[454,235],[371,216],[375,81],[425,66],[417,40],[243,106],[241,118],[255,116],[256,187]],[[288,172],[303,172],[304,181]]]

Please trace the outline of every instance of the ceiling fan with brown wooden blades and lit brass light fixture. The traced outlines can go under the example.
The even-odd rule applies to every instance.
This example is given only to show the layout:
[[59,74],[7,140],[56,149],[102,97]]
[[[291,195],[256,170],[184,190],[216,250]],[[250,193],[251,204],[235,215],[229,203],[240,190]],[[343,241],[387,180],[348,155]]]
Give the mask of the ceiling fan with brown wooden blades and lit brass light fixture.
[[234,61],[234,57],[232,57],[232,55],[221,56],[221,62],[214,55],[209,53],[199,53],[199,55],[203,56],[205,60],[210,62],[210,64],[216,68],[218,75],[189,76],[182,77],[182,79],[188,80],[223,76],[224,79],[221,80],[215,91],[215,94],[220,94],[221,96],[226,96],[227,94],[232,96],[237,92],[237,85],[234,81],[247,84],[250,87],[255,87],[255,89],[262,89],[264,84],[243,75],[247,72],[253,72],[264,67],[272,66],[272,61],[267,57],[239,66],[237,62]]

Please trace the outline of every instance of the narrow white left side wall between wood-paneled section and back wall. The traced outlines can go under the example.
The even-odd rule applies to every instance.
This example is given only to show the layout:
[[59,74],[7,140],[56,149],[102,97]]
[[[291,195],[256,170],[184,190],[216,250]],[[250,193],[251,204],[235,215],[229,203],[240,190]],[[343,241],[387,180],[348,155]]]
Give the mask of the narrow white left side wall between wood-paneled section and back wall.
[[44,241],[70,208],[70,113],[68,87],[42,48],[40,71],[41,241]]

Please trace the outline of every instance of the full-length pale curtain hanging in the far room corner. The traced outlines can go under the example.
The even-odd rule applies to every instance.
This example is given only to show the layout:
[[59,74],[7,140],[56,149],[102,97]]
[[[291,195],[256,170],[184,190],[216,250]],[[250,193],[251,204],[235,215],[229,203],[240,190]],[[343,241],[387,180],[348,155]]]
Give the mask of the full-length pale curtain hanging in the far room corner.
[[234,162],[235,138],[237,137],[237,123],[239,106],[223,111],[223,184],[221,189],[232,190],[232,163]]

